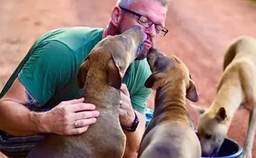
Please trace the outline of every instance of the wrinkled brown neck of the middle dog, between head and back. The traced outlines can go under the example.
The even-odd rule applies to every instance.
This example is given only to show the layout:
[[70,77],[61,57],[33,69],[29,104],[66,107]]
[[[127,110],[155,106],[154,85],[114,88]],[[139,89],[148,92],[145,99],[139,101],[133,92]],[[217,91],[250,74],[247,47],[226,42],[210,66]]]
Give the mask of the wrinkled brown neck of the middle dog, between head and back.
[[185,83],[167,83],[156,90],[154,115],[165,115],[164,120],[187,120]]

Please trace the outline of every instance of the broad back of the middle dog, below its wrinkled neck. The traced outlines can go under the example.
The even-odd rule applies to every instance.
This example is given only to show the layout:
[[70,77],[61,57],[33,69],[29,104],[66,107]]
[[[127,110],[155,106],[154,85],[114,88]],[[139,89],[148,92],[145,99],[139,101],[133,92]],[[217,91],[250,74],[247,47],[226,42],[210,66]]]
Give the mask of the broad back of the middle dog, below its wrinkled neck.
[[195,131],[187,125],[163,122],[151,130],[144,139],[146,141],[141,145],[146,148],[141,157],[201,157],[199,140]]

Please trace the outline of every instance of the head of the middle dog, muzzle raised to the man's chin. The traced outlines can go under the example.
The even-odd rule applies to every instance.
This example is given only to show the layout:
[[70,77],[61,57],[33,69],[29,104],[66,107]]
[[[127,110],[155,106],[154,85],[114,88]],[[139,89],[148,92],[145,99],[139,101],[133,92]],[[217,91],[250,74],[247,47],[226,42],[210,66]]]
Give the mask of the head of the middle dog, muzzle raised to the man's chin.
[[192,102],[197,102],[197,90],[189,69],[177,56],[166,56],[160,50],[151,48],[148,51],[147,61],[152,75],[146,80],[145,87],[157,90],[167,83],[183,82],[186,87],[186,97]]

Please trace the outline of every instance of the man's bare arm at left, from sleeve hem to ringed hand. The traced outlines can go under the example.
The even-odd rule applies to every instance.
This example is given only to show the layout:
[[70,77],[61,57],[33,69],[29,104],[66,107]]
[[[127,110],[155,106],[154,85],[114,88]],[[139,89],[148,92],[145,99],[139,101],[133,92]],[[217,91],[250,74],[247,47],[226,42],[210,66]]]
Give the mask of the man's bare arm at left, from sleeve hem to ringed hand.
[[[35,100],[32,95],[28,95],[30,93],[16,79],[0,100],[0,129],[19,136],[40,133],[81,134],[96,122],[95,117],[99,114],[94,110],[94,105],[83,103],[84,98],[61,102],[49,112],[32,112],[24,106]],[[78,120],[79,128],[74,127],[74,120]]]

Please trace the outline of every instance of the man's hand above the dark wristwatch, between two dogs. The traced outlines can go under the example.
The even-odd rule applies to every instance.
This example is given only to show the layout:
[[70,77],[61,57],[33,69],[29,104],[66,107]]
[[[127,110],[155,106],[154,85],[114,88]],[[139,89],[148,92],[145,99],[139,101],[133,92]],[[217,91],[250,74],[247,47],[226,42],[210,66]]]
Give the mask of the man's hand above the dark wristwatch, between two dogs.
[[120,99],[120,124],[123,127],[131,127],[135,119],[134,110],[132,109],[132,103],[129,91],[124,83],[121,86],[121,99]]

